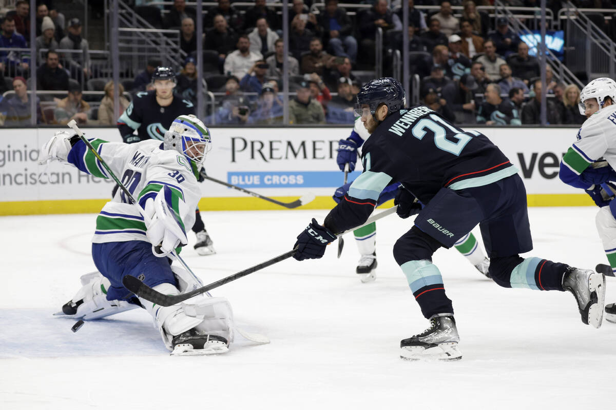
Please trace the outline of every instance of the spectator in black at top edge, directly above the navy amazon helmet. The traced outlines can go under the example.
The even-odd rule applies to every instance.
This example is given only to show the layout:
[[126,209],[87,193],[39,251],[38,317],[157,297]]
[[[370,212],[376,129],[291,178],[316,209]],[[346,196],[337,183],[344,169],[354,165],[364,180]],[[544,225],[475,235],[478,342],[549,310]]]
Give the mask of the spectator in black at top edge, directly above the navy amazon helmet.
[[383,33],[389,29],[402,30],[400,18],[387,7],[387,0],[376,0],[374,6],[359,17],[360,45],[363,60],[367,63],[375,61],[376,30]]

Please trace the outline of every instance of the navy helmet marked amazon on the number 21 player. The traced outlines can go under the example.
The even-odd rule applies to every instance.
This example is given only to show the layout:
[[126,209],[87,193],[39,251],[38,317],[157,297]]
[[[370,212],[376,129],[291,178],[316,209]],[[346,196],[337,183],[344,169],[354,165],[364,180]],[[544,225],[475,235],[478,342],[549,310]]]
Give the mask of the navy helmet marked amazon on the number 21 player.
[[362,106],[367,105],[370,108],[370,114],[374,117],[376,109],[381,104],[387,106],[387,115],[389,115],[404,108],[405,102],[404,89],[399,81],[392,77],[379,78],[363,85],[357,93],[355,115],[361,117]]

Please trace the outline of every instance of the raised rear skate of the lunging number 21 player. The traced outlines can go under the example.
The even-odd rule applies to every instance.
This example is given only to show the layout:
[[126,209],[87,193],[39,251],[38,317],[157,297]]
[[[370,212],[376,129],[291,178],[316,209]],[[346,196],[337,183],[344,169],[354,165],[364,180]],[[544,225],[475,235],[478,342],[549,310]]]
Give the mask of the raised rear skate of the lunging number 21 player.
[[605,275],[570,267],[562,279],[562,287],[575,296],[582,322],[600,328],[606,297]]

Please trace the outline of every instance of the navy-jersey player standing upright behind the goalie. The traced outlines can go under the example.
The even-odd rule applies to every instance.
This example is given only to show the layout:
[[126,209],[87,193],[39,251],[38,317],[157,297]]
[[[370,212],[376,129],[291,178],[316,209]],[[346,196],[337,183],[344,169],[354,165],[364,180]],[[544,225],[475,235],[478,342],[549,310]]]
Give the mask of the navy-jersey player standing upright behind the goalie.
[[[155,89],[138,92],[118,119],[118,130],[125,143],[163,140],[164,133],[177,116],[195,114],[195,106],[190,100],[174,94],[176,74],[171,68],[156,67],[152,81]],[[137,135],[134,135],[135,131]],[[192,231],[197,236],[195,250],[198,254],[216,253],[198,209]]]

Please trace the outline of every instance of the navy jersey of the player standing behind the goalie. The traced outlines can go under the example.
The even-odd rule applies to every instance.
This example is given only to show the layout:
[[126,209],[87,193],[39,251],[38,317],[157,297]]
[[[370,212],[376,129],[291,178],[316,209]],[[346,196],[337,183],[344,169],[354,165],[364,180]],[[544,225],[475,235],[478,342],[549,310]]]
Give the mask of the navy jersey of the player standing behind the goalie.
[[[144,140],[163,140],[164,133],[180,115],[195,114],[194,104],[177,94],[166,107],[156,102],[156,91],[142,91],[135,95],[126,111],[118,119],[118,130],[125,143]],[[132,133],[137,130],[139,138]]]

